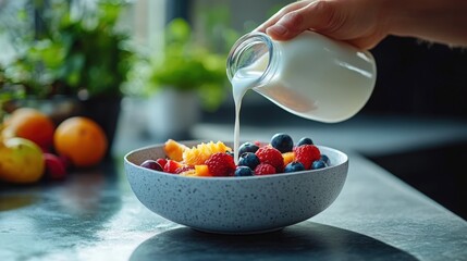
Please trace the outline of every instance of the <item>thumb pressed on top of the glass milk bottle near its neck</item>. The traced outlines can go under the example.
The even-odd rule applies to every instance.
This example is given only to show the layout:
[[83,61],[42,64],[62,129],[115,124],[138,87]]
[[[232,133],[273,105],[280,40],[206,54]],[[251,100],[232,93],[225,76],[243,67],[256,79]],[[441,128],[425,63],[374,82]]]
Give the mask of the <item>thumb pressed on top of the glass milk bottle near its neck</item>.
[[292,39],[307,29],[327,34],[336,30],[341,24],[336,13],[333,2],[315,1],[283,15],[266,33],[275,40]]

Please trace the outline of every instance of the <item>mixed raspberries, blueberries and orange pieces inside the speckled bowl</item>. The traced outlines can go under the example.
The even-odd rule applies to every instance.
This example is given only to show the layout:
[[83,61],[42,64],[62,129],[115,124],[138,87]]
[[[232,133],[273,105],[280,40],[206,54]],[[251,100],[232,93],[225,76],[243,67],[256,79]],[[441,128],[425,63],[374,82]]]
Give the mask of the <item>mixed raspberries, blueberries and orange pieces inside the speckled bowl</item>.
[[228,177],[259,176],[318,170],[330,166],[311,138],[296,144],[284,133],[272,136],[269,144],[244,142],[235,161],[233,149],[222,141],[200,142],[188,147],[169,139],[163,145],[165,157],[145,160],[140,166],[182,176]]

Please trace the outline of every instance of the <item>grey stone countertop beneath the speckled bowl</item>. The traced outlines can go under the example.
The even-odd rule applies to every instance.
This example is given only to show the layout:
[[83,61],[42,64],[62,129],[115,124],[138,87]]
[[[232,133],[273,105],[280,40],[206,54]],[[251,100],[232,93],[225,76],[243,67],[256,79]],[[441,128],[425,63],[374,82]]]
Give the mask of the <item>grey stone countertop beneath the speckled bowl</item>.
[[[124,144],[115,146],[115,160],[95,170],[72,173],[63,183],[0,186],[0,260],[466,260],[467,222],[361,151],[462,138],[467,125],[419,122],[427,129],[420,133],[407,122],[396,135],[380,122],[353,124],[287,127],[293,136],[312,132],[320,144],[348,153],[347,181],[320,214],[251,236],[195,232],[147,210],[125,179],[122,154],[151,141],[120,133]],[[200,124],[194,136],[225,139],[231,127]],[[279,129],[245,127],[243,137],[265,139]]]

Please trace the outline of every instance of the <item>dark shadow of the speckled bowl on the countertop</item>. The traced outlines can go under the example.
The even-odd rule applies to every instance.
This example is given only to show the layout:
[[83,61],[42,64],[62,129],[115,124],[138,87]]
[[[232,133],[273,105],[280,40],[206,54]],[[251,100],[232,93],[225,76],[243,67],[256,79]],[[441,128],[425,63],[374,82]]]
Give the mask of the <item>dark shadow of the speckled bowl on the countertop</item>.
[[417,260],[374,238],[314,222],[249,235],[213,235],[181,227],[153,236],[131,260]]

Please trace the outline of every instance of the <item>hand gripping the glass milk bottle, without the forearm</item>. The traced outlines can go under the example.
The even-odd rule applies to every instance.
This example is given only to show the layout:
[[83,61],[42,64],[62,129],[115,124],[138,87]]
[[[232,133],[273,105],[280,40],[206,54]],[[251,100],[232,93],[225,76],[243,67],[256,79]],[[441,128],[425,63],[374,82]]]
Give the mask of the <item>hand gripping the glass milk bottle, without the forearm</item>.
[[304,0],[291,3],[256,30],[288,40],[310,29],[360,49],[371,49],[389,35],[382,0]]

